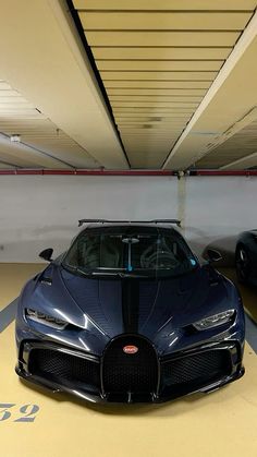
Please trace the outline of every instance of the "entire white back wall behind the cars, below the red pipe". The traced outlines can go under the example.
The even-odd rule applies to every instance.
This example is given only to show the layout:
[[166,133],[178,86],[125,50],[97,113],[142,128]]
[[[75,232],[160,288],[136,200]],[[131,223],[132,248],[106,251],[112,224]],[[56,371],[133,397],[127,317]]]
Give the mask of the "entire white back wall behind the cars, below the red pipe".
[[36,262],[62,252],[87,217],[182,218],[197,252],[233,251],[235,236],[257,227],[256,178],[0,177],[0,262]]

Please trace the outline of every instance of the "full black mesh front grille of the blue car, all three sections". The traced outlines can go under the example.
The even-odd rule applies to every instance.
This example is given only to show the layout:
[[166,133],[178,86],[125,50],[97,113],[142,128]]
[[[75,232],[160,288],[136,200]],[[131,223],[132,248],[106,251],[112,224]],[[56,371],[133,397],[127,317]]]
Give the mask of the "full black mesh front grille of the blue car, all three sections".
[[[136,353],[125,353],[125,346]],[[106,349],[102,360],[103,392],[110,401],[151,401],[157,394],[159,362],[154,347],[140,336],[121,336]],[[58,351],[33,348],[28,371],[70,388],[100,395],[100,363]],[[197,390],[231,374],[229,350],[212,349],[160,363],[159,398],[172,398]],[[128,396],[128,393],[131,397]]]

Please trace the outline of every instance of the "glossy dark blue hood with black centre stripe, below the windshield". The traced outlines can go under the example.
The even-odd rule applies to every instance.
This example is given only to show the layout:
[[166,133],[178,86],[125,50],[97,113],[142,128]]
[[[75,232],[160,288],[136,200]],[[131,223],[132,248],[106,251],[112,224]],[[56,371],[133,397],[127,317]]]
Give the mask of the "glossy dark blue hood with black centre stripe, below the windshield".
[[[51,285],[44,280],[46,277]],[[84,346],[101,353],[114,336],[140,334],[161,352],[166,346],[169,350],[171,335],[180,339],[189,324],[228,308],[232,290],[211,267],[150,280],[87,278],[51,264],[36,281],[28,282],[22,300],[26,306],[72,324],[65,335],[60,335],[63,342],[74,342],[77,328]],[[48,334],[51,337],[50,330]]]

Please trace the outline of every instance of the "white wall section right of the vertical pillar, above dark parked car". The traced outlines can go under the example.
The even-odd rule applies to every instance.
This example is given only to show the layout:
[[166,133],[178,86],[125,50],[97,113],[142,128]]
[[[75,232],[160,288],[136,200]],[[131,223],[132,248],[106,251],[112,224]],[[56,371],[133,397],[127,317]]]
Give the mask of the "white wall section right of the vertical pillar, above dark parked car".
[[185,234],[193,248],[211,244],[232,263],[238,233],[257,228],[257,179],[191,177],[185,185]]

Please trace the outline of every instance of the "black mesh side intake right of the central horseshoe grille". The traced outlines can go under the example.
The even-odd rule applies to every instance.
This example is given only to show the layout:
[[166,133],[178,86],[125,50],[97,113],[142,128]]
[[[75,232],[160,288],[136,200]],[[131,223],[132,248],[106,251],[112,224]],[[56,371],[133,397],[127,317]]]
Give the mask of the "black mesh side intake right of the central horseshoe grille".
[[209,350],[171,360],[162,364],[162,388],[200,387],[231,373],[231,357],[227,350]]

